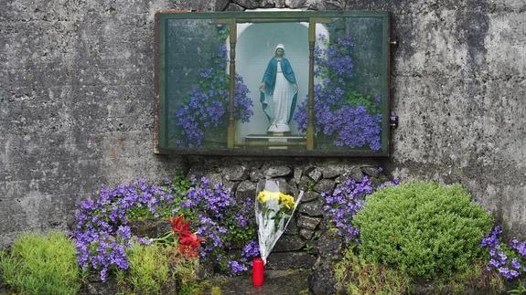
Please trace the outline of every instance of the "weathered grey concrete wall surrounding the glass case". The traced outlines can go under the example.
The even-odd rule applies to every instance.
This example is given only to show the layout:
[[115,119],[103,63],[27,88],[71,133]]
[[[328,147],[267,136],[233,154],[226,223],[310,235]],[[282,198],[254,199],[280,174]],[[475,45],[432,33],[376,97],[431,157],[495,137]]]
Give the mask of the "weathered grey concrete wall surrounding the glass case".
[[465,184],[526,236],[523,0],[0,0],[0,245],[64,228],[103,184],[186,170],[152,153],[154,14],[258,6],[391,11],[388,171]]

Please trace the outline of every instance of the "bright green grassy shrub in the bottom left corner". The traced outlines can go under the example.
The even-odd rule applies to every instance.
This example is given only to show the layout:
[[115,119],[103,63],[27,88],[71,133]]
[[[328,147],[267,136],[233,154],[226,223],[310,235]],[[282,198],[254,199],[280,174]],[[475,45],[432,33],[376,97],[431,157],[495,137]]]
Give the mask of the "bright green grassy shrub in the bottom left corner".
[[76,294],[81,288],[75,245],[63,233],[26,234],[0,255],[5,284],[26,294]]

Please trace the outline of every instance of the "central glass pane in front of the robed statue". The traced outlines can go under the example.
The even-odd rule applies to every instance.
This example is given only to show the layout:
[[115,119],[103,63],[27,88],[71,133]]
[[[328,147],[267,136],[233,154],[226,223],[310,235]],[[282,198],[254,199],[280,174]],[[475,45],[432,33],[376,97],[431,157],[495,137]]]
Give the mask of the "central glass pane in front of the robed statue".
[[236,71],[250,91],[253,111],[249,120],[238,121],[236,142],[305,149],[294,115],[308,93],[308,23],[246,23],[237,31]]

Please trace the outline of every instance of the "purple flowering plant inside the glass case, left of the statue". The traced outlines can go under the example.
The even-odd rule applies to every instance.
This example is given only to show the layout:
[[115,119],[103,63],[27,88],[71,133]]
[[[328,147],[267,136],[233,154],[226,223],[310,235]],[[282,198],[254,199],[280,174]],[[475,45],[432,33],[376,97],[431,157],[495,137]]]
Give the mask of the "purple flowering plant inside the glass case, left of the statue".
[[[199,72],[198,84],[188,91],[175,112],[177,146],[198,147],[205,140],[206,132],[226,131],[230,105],[230,76],[225,71],[228,63],[226,46],[220,47],[220,56],[213,60],[211,68]],[[248,122],[252,117],[252,100],[248,93],[242,77],[236,74],[234,116],[242,122]]]

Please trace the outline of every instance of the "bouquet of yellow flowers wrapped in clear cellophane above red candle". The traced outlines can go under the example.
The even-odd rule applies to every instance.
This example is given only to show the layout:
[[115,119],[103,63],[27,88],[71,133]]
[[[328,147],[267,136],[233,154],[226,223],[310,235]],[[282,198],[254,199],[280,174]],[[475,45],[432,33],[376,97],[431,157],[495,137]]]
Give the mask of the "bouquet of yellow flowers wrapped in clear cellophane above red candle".
[[274,180],[267,179],[264,183],[258,184],[255,216],[258,225],[260,254],[265,264],[275,243],[284,233],[302,195],[303,191],[297,198],[284,194]]

